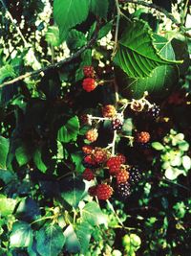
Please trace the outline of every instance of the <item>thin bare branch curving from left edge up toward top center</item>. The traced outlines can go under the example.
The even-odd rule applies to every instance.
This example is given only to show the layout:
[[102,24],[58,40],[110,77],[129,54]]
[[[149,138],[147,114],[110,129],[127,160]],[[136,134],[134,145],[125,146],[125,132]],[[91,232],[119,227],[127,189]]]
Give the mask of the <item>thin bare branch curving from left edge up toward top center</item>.
[[42,67],[42,68],[40,68],[38,70],[34,70],[32,72],[28,72],[28,73],[26,73],[24,75],[21,75],[21,76],[13,79],[11,81],[5,81],[2,84],[0,84],[0,88],[4,87],[6,85],[9,85],[9,84],[11,84],[13,82],[23,81],[23,80],[25,80],[27,78],[36,76],[36,75],[38,75],[41,72],[44,73],[44,72],[46,72],[48,70],[55,69],[55,68],[58,68],[60,66],[63,66],[63,65],[66,65],[66,64],[72,62],[75,58],[78,58],[86,49],[90,48],[96,42],[97,34],[98,34],[98,25],[96,26],[96,31],[95,31],[94,35],[92,36],[92,38],[90,39],[90,41],[85,46],[80,48],[76,53],[74,53],[74,55],[72,55],[71,57],[62,59],[59,62],[50,64],[50,65],[48,65],[46,67]]

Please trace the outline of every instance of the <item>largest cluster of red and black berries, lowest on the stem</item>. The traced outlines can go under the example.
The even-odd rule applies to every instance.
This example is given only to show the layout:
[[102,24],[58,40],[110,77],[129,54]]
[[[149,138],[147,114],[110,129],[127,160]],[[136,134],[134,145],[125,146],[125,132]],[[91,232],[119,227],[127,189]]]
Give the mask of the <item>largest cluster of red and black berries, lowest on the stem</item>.
[[84,146],[82,151],[85,153],[83,165],[86,169],[82,175],[85,180],[94,180],[100,170],[110,175],[109,182],[90,187],[91,196],[107,200],[112,197],[116,189],[121,198],[127,198],[130,195],[131,185],[138,182],[141,175],[138,168],[126,165],[126,157],[123,154],[112,156],[110,151],[94,149],[90,145]]

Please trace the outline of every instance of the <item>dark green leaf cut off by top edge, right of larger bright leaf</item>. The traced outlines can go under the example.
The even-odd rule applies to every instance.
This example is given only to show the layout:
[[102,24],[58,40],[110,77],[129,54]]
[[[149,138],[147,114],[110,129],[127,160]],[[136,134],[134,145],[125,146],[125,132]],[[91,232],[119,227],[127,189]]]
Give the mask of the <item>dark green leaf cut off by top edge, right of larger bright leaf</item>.
[[90,10],[95,13],[96,16],[101,18],[107,17],[109,2],[108,0],[91,0]]

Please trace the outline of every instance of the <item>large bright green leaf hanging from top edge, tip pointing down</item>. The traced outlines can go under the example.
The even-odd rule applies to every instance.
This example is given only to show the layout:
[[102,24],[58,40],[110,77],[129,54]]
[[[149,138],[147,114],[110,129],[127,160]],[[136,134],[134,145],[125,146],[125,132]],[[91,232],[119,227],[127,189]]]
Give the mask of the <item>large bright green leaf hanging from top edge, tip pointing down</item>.
[[53,17],[59,27],[61,39],[75,25],[84,21],[89,12],[90,0],[54,0]]

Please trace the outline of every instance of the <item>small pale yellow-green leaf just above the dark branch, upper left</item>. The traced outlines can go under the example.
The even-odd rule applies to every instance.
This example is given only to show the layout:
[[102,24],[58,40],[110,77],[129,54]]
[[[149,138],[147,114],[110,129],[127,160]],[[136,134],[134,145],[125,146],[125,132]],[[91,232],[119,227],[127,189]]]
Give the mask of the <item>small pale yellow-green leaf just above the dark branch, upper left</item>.
[[59,29],[57,26],[50,26],[45,34],[46,41],[53,46],[59,46],[61,44]]

